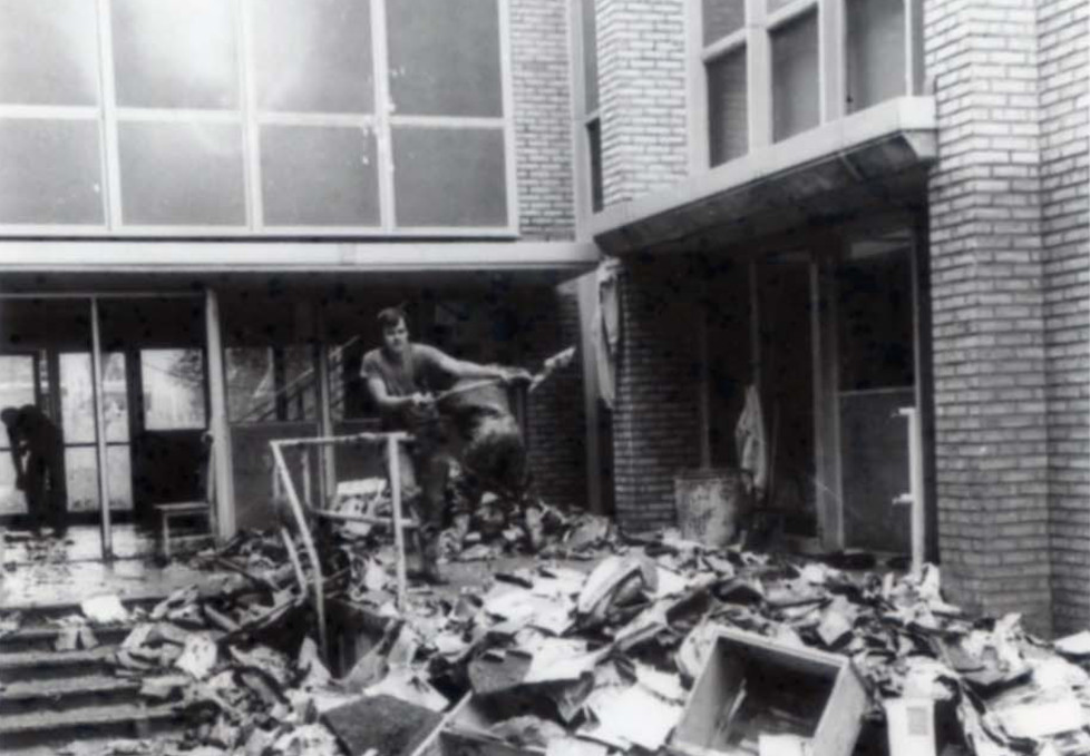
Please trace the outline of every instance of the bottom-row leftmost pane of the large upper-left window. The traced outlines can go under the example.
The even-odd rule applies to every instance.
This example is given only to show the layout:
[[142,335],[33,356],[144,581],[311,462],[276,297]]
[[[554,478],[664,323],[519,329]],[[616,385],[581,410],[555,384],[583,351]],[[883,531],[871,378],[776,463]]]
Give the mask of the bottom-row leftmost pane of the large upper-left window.
[[94,120],[0,120],[0,224],[91,224],[103,218]]

